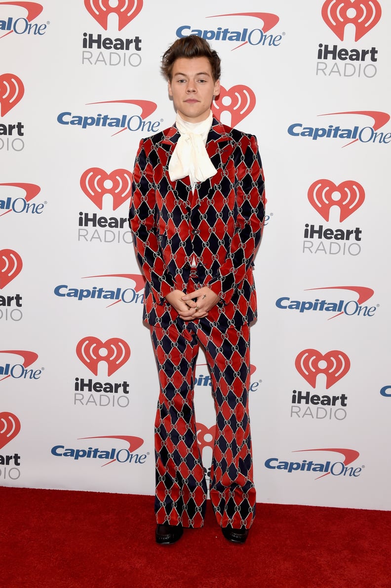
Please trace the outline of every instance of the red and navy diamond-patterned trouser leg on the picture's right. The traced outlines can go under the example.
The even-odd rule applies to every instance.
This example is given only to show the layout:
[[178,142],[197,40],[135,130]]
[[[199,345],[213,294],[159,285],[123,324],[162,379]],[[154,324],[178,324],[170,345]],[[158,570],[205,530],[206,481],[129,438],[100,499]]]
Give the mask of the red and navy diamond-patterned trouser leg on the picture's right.
[[250,528],[255,516],[248,389],[250,328],[226,333],[210,326],[197,330],[211,369],[217,427],[210,497],[217,522]]

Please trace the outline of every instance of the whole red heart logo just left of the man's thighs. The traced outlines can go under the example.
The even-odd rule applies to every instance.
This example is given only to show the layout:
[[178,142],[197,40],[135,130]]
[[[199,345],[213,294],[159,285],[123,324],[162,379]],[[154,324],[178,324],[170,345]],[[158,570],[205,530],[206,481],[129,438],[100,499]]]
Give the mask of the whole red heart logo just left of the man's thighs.
[[103,343],[96,337],[85,337],[77,343],[76,355],[95,376],[99,363],[107,363],[107,376],[111,376],[130,358],[130,347],[123,339],[112,338]]

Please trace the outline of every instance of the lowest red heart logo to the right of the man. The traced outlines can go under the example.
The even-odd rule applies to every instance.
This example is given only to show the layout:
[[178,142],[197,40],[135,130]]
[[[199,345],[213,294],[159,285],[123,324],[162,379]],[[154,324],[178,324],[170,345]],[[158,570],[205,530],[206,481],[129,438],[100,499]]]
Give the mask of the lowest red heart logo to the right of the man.
[[350,359],[336,349],[322,355],[316,349],[304,349],[295,359],[295,368],[313,388],[316,387],[316,377],[323,373],[326,376],[326,390],[349,372]]

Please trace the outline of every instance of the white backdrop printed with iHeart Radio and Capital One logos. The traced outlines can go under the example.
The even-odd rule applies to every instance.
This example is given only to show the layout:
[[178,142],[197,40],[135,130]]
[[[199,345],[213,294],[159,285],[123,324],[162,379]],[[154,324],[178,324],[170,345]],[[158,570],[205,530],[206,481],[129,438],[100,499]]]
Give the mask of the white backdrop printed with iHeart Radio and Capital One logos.
[[[259,502],[391,507],[391,5],[0,1],[0,484],[153,494],[158,383],[127,223],[141,138],[174,122],[177,38],[257,135],[251,422]],[[195,382],[206,475],[215,414]]]

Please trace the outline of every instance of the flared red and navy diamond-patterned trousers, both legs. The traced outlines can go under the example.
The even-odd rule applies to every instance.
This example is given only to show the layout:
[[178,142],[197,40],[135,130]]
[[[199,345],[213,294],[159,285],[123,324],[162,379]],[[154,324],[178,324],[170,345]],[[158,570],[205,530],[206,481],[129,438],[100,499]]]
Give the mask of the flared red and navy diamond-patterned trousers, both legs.
[[248,389],[250,327],[221,332],[207,318],[150,326],[159,370],[155,422],[157,523],[202,527],[207,483],[194,413],[200,345],[211,374],[216,434],[210,499],[220,526],[250,528],[255,515]]

